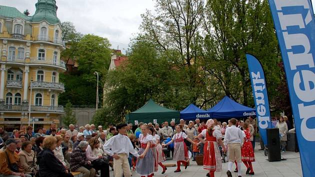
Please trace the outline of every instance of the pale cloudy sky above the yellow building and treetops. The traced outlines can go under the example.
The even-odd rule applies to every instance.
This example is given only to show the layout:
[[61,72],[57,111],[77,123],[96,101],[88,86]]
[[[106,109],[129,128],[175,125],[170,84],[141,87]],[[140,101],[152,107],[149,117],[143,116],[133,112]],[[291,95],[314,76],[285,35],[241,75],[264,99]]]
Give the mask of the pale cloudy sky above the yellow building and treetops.
[[[33,15],[37,0],[0,0],[0,5],[26,8]],[[57,17],[71,21],[78,32],[106,37],[111,47],[123,52],[139,31],[141,14],[153,10],[154,0],[56,0]]]

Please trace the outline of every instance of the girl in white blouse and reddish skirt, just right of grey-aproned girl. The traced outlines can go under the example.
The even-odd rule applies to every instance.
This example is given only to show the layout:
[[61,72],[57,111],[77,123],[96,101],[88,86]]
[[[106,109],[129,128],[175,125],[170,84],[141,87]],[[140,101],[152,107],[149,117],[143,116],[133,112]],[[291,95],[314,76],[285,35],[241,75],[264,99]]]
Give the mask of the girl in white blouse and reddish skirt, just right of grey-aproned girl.
[[149,127],[148,133],[153,136],[151,149],[154,155],[154,171],[157,171],[157,167],[160,165],[163,168],[162,174],[164,174],[167,168],[162,164],[162,162],[165,160],[165,155],[163,153],[162,146],[159,143],[159,135],[155,134],[156,132],[153,127]]

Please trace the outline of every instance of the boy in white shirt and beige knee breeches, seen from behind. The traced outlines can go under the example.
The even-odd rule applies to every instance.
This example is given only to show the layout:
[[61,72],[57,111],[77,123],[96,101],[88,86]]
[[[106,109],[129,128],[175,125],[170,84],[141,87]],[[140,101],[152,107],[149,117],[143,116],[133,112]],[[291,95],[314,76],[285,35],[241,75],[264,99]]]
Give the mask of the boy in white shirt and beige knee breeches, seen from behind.
[[241,146],[243,143],[243,133],[240,128],[237,128],[235,118],[231,118],[230,121],[231,126],[226,128],[224,143],[227,144],[228,147],[228,170],[226,174],[228,177],[232,177],[231,170],[234,160],[236,160],[237,168],[238,168],[238,177],[241,177]]

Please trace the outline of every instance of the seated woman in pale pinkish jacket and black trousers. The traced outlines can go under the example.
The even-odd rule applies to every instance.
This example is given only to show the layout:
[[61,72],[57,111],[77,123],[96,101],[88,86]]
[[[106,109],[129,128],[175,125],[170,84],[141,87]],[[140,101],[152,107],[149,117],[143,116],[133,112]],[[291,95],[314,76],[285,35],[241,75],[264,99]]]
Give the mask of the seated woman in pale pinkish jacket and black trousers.
[[86,158],[91,160],[95,170],[100,170],[100,177],[109,176],[109,166],[103,154],[103,150],[99,147],[99,140],[97,139],[97,136],[92,137],[86,148]]

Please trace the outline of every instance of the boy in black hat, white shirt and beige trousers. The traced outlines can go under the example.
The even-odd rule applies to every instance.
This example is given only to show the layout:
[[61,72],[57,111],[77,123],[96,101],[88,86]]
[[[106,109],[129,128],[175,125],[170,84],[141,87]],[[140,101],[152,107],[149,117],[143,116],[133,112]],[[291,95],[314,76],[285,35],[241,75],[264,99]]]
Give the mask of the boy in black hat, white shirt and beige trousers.
[[112,156],[114,176],[121,177],[121,169],[125,177],[131,176],[130,166],[128,162],[129,153],[139,157],[137,151],[133,149],[130,139],[126,134],[126,123],[120,123],[116,126],[118,134],[112,136],[103,145],[103,150],[106,154]]

